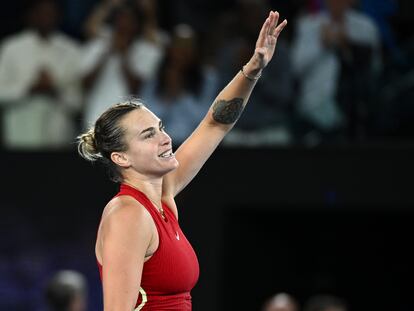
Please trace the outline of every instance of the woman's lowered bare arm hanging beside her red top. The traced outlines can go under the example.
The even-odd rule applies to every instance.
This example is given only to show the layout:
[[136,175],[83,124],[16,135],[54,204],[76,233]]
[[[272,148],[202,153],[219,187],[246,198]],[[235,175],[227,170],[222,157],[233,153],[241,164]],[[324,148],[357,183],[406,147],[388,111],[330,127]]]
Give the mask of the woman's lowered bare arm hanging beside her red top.
[[130,311],[152,238],[151,216],[130,197],[118,197],[111,205],[100,229],[104,310]]

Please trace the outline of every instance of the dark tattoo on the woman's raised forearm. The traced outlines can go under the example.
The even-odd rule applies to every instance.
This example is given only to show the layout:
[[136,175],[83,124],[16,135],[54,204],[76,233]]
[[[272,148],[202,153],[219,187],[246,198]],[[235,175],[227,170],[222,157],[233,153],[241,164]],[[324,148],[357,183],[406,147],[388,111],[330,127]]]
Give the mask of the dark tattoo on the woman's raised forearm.
[[231,124],[243,111],[243,98],[219,99],[213,104],[213,119],[218,123]]

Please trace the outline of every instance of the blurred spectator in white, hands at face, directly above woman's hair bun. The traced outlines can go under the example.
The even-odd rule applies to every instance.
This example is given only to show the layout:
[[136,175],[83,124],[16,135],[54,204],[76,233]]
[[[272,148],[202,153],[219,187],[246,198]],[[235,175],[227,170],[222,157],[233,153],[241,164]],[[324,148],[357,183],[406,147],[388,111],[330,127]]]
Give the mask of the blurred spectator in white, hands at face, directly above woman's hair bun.
[[155,75],[164,53],[163,45],[138,37],[140,14],[136,6],[120,4],[114,6],[112,14],[113,28],[88,42],[82,59],[84,128],[125,94],[137,94],[142,84]]

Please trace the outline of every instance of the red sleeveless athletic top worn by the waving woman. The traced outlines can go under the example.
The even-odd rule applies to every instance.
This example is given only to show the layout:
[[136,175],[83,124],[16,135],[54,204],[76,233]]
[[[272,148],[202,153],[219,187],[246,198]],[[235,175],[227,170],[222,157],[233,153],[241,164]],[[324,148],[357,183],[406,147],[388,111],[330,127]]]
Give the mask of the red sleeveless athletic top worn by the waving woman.
[[[158,249],[144,263],[140,294],[135,310],[191,311],[190,291],[199,275],[197,256],[180,229],[173,212],[164,203],[165,220],[147,196],[122,184],[116,196],[129,195],[151,214],[159,236]],[[102,267],[98,262],[102,279]]]

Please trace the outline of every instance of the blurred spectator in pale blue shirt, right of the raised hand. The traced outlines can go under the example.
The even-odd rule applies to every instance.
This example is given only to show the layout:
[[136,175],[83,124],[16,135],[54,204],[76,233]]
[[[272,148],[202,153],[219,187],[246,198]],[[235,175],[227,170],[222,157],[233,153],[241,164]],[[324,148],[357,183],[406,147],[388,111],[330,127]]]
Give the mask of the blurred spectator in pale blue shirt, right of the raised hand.
[[355,130],[350,123],[366,109],[362,93],[369,90],[378,65],[378,30],[369,17],[351,8],[352,2],[325,0],[326,11],[303,16],[296,26],[297,110],[318,139]]

